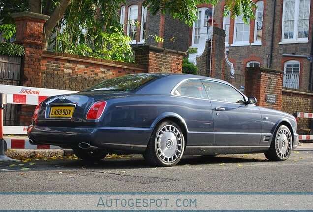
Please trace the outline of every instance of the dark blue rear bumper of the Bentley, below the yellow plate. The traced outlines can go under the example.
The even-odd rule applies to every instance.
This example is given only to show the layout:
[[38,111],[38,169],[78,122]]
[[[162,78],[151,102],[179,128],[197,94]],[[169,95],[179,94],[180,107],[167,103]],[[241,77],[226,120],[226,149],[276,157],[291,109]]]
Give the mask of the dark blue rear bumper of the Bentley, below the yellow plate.
[[91,146],[112,151],[145,151],[152,129],[125,127],[28,127],[32,144],[49,144],[63,148],[79,148],[85,142]]

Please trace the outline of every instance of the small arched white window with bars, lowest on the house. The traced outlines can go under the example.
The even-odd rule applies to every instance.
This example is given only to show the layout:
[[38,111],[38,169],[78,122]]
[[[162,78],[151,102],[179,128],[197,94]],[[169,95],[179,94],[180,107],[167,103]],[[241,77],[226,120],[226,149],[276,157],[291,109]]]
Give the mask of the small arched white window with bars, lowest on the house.
[[[299,65],[299,71],[292,70],[292,73],[287,72],[287,65]],[[294,67],[292,67],[294,68]],[[300,82],[300,62],[298,60],[288,60],[284,64],[282,86],[287,88],[299,89]],[[296,73],[298,72],[298,73]]]

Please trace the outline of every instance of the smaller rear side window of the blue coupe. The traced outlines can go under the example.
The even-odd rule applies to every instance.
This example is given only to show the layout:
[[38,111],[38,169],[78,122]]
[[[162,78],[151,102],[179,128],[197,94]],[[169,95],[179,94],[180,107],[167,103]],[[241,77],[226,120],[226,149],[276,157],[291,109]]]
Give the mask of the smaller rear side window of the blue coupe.
[[179,96],[208,99],[204,86],[199,79],[190,79],[183,82],[175,89],[174,94]]

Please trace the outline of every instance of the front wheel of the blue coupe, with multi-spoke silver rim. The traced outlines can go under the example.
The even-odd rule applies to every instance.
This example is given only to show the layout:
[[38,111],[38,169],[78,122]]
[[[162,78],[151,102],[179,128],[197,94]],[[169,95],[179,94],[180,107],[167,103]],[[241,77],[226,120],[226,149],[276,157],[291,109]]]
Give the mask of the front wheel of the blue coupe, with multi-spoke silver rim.
[[292,150],[293,138],[289,128],[281,125],[276,130],[270,149],[265,157],[270,161],[284,161],[289,158]]

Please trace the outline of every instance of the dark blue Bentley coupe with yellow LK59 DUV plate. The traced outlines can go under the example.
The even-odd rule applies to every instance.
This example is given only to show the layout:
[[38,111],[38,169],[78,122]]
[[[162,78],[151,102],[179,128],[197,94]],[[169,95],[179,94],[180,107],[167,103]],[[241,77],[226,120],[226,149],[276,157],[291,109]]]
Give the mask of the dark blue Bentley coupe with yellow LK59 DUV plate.
[[219,79],[125,75],[41,102],[28,137],[31,144],[71,148],[89,161],[108,153],[142,153],[152,166],[173,166],[183,155],[288,159],[298,144],[295,118],[255,103]]

